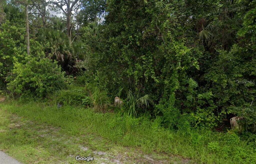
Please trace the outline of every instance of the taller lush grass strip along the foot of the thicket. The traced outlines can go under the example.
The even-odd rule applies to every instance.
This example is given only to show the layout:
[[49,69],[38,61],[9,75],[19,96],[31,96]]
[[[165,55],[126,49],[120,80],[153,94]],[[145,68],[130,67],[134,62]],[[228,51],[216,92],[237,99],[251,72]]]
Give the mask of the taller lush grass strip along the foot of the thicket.
[[1,109],[27,119],[61,127],[71,135],[94,134],[122,146],[139,147],[146,153],[179,155],[197,163],[255,163],[255,143],[235,133],[172,131],[148,116],[134,118],[117,113],[94,113],[90,108],[45,106],[41,103],[0,104]]

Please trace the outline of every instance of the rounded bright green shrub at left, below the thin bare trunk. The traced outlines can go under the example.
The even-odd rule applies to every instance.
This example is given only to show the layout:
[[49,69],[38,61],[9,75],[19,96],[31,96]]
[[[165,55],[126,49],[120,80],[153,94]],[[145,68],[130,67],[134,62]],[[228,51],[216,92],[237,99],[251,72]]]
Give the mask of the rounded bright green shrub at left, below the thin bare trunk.
[[14,94],[44,98],[47,94],[67,86],[64,72],[57,62],[31,58],[26,64],[16,62],[8,77],[7,88]]

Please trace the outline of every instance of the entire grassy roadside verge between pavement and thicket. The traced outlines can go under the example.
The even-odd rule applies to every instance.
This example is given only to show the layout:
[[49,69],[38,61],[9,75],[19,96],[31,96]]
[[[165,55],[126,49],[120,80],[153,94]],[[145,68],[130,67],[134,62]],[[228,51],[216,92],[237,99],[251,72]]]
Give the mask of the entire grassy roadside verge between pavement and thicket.
[[[117,155],[126,152],[128,147],[132,161],[138,163],[143,163],[143,160],[136,161],[136,153],[151,154],[154,159],[171,163],[184,163],[185,159],[196,163],[256,161],[255,143],[248,144],[235,133],[171,131],[161,128],[146,116],[133,118],[119,113],[94,113],[90,108],[72,106],[58,109],[35,102],[9,101],[0,104],[0,108],[0,129],[3,131],[0,133],[0,149],[24,163],[33,163],[33,157],[45,161],[42,163],[72,163],[73,157],[69,158],[69,155],[81,153],[79,145],[84,144],[92,151],[116,152]],[[20,128],[10,128],[11,121],[15,120],[13,114],[21,117],[18,122],[25,122]],[[26,121],[30,120],[34,123],[27,124]],[[53,130],[44,132],[47,126]],[[49,139],[40,137],[43,135]],[[86,152],[86,155],[90,153]],[[48,161],[48,157],[52,161]]]

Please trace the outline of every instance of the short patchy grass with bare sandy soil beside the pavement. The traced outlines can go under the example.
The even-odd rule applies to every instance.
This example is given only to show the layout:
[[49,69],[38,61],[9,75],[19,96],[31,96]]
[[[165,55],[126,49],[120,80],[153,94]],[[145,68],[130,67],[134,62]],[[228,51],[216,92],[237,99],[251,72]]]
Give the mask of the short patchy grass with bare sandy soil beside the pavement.
[[[70,135],[60,127],[42,124],[0,109],[0,150],[21,163],[191,163],[165,153],[145,154],[92,134]],[[85,162],[85,161],[83,161]]]

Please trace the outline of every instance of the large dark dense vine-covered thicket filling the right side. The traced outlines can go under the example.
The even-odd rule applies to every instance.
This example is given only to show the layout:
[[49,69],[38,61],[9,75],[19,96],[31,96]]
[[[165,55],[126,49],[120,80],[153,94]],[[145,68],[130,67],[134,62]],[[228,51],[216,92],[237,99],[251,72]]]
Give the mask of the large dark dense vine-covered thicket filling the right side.
[[84,27],[82,40],[87,72],[110,97],[122,84],[150,94],[151,114],[174,128],[184,113],[191,125],[213,128],[237,113],[230,106],[254,100],[255,83],[237,81],[256,77],[255,1],[107,4],[105,23]]

